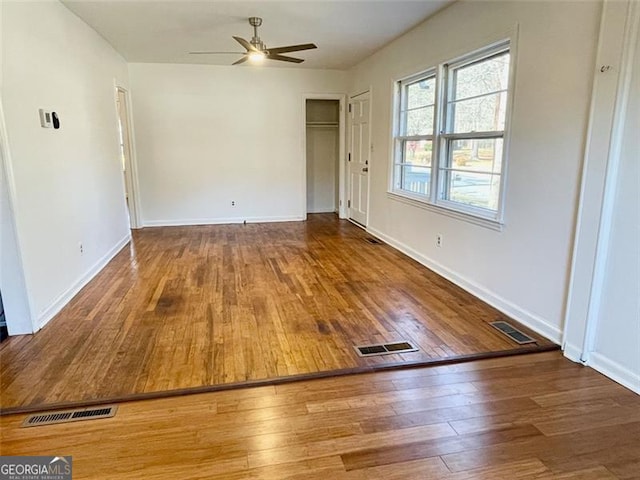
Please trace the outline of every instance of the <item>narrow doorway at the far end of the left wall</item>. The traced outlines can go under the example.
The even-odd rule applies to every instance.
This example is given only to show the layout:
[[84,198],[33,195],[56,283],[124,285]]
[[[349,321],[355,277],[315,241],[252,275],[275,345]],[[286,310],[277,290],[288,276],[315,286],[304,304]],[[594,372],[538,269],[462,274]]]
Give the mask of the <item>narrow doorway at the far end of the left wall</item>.
[[129,102],[127,91],[116,87],[116,107],[118,110],[118,138],[120,142],[120,161],[124,181],[125,202],[129,215],[129,226],[139,228],[138,209],[135,196],[135,175],[133,171],[131,145],[131,124],[129,122]]

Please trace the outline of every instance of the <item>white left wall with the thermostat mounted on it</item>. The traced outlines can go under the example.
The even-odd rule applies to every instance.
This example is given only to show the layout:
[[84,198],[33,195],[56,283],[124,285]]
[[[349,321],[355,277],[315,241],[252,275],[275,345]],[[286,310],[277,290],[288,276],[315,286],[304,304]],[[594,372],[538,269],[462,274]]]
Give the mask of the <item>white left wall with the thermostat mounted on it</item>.
[[[2,56],[6,160],[37,328],[129,237],[114,93],[127,68],[58,2],[4,2]],[[41,128],[39,108],[58,112],[61,128]]]

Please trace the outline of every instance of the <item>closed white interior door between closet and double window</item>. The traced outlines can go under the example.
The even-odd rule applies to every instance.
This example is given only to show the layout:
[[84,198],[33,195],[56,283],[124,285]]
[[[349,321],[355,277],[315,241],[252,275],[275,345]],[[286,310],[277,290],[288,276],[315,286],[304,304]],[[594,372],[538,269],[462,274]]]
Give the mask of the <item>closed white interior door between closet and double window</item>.
[[351,97],[349,103],[349,218],[367,225],[369,204],[369,156],[371,154],[371,122],[369,92]]

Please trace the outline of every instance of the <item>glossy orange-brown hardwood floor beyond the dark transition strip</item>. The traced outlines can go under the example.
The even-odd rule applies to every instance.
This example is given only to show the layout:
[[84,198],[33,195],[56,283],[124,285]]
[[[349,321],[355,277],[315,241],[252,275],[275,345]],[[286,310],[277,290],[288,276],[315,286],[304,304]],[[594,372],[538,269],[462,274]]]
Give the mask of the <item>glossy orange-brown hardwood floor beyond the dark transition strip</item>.
[[[2,413],[530,350],[487,324],[500,312],[366,238],[334,215],[135,231],[42,331],[0,345]],[[419,351],[353,349],[401,339]]]

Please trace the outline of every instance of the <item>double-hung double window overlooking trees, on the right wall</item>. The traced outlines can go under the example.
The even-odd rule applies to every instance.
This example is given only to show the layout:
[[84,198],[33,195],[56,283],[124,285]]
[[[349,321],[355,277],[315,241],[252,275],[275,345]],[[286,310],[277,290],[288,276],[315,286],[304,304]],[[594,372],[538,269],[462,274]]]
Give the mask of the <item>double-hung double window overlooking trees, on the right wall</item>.
[[396,194],[499,221],[509,42],[398,82]]

